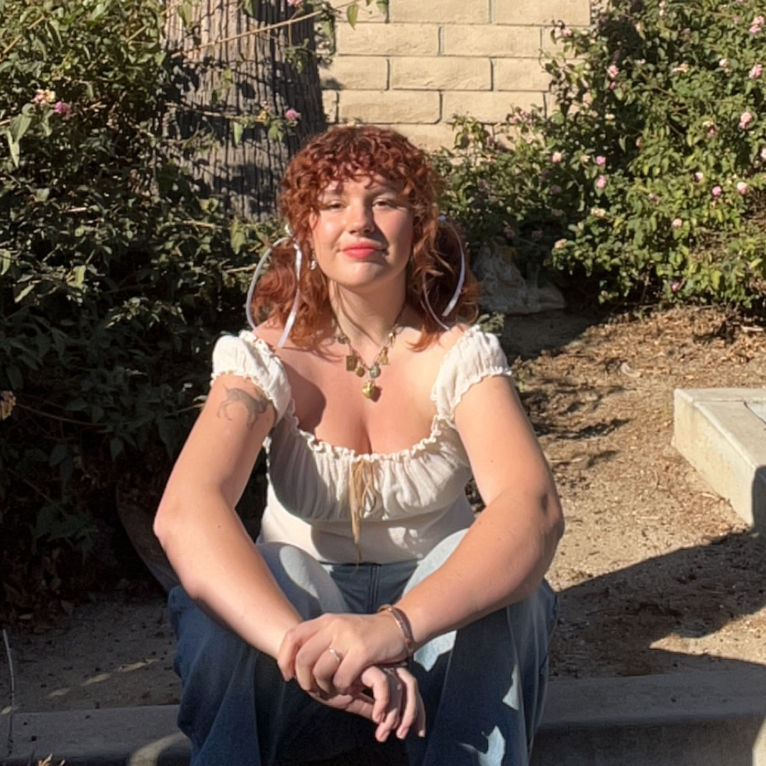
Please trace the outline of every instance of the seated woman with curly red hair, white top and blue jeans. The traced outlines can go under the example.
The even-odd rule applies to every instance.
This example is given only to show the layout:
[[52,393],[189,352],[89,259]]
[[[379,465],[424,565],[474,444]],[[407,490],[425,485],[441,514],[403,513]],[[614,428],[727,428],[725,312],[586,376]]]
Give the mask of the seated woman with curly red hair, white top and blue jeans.
[[[193,764],[329,758],[372,736],[364,719],[411,764],[528,760],[561,508],[498,342],[469,326],[476,283],[436,188],[423,152],[373,127],[288,169],[260,324],[216,345],[155,522],[182,582]],[[234,506],[264,445],[254,543]]]

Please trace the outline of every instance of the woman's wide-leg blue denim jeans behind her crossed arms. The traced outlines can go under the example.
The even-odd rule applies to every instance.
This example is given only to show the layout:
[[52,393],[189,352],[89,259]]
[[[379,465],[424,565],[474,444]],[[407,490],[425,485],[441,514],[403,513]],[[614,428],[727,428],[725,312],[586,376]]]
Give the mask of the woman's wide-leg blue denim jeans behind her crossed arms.
[[[422,561],[321,565],[290,545],[259,545],[280,588],[302,617],[370,614],[394,603],[447,559],[464,532]],[[334,758],[373,740],[365,719],[331,710],[277,663],[211,620],[182,588],[169,597],[182,679],[178,726],[191,766],[267,766]],[[525,766],[540,722],[556,597],[547,583],[532,596],[437,637],[417,650],[427,735],[410,735],[411,766]]]

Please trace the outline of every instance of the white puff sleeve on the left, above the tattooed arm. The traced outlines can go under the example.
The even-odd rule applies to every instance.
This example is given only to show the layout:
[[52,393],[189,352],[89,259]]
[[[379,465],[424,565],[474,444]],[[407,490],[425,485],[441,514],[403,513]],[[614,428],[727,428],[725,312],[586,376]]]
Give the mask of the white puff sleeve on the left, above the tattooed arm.
[[252,332],[222,336],[213,349],[211,384],[220,375],[238,375],[257,385],[277,411],[277,422],[290,405],[290,382],[282,362],[269,345]]

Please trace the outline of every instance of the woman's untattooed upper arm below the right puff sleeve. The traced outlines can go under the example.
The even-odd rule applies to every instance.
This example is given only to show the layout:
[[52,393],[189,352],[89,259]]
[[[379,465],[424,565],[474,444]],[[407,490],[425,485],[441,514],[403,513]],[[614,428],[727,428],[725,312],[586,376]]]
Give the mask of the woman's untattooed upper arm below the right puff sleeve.
[[489,375],[472,385],[457,405],[455,424],[486,505],[508,493],[516,508],[523,504],[560,523],[548,463],[508,377]]

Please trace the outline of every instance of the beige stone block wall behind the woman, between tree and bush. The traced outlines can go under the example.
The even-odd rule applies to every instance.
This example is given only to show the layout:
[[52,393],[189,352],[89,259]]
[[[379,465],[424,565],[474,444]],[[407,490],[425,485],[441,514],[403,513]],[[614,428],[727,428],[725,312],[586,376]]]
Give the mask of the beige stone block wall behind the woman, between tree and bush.
[[590,0],[389,0],[387,15],[360,5],[321,72],[328,122],[388,125],[428,149],[452,146],[455,114],[495,123],[512,106],[545,106],[540,54],[554,23],[590,23]]

